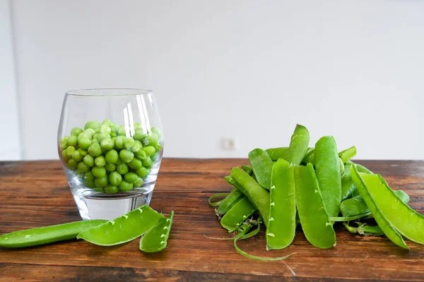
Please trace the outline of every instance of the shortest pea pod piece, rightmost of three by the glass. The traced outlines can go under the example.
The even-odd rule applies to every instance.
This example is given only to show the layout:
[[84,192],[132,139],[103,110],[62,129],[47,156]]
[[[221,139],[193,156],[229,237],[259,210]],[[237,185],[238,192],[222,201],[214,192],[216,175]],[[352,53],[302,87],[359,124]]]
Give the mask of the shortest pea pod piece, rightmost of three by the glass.
[[167,246],[167,238],[170,236],[174,211],[170,217],[163,217],[158,224],[147,231],[140,240],[140,250],[143,252],[160,252]]

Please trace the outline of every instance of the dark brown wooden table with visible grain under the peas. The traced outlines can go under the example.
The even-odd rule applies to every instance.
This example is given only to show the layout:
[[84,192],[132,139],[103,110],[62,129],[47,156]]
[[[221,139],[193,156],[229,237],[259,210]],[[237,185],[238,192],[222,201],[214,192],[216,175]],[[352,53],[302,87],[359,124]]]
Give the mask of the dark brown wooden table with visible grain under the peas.
[[[358,161],[382,173],[392,188],[411,196],[424,213],[424,161]],[[290,247],[265,250],[264,231],[240,242],[261,256],[295,252],[284,261],[257,262],[235,252],[224,237],[208,197],[228,192],[222,179],[247,159],[164,159],[151,207],[175,211],[168,247],[159,253],[139,251],[139,240],[98,247],[71,240],[20,250],[0,250],[0,281],[160,281],[387,279],[424,280],[424,245],[407,241],[403,250],[383,237],[351,235],[336,224],[337,246],[321,250],[298,231]],[[0,233],[80,220],[59,161],[0,162]],[[293,270],[293,272],[291,270]]]

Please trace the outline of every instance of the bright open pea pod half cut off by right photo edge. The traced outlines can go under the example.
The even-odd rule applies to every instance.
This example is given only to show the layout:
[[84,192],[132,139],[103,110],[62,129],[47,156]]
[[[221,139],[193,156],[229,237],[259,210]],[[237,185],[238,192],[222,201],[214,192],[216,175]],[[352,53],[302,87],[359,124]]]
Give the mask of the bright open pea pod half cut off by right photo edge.
[[363,174],[361,177],[370,197],[396,231],[413,242],[424,244],[424,216],[402,202],[381,175]]

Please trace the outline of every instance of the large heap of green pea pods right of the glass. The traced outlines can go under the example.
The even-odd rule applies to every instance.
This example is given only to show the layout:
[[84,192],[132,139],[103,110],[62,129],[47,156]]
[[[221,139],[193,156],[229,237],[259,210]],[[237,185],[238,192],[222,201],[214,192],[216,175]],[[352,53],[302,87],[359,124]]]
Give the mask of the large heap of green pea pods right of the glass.
[[[336,247],[336,221],[353,234],[386,235],[405,249],[404,237],[424,244],[424,216],[408,206],[406,192],[392,190],[381,175],[351,161],[355,147],[338,152],[332,136],[321,137],[314,147],[309,142],[307,128],[296,125],[289,147],[253,149],[251,165],[232,168],[225,177],[233,186],[230,193],[209,198],[221,226],[237,233],[237,252],[260,260],[287,257],[256,257],[237,247],[237,240],[259,233],[261,223],[266,250],[288,247],[298,225],[315,247]],[[372,226],[361,222],[372,218]]]

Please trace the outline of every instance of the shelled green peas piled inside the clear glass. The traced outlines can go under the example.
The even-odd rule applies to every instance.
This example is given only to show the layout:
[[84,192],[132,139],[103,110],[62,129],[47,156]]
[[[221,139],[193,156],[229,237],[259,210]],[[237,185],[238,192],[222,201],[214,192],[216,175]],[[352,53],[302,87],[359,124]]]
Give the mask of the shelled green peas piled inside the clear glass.
[[72,128],[71,135],[60,141],[61,159],[75,171],[87,188],[114,194],[143,185],[161,149],[160,129],[143,132],[134,123],[134,135],[126,136],[125,126],[106,119],[88,121]]

